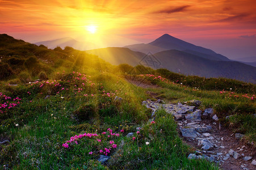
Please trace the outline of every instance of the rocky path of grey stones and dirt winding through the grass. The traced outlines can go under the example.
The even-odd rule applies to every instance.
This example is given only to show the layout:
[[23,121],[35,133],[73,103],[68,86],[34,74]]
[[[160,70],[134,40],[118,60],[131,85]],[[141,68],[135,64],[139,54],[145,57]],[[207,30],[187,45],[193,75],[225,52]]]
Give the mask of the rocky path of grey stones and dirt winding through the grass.
[[163,104],[160,99],[142,104],[152,109],[152,118],[158,109],[173,114],[183,141],[195,148],[188,159],[207,159],[223,169],[256,169],[255,147],[240,141],[242,134],[232,134],[219,123],[212,108],[198,109],[200,101]]

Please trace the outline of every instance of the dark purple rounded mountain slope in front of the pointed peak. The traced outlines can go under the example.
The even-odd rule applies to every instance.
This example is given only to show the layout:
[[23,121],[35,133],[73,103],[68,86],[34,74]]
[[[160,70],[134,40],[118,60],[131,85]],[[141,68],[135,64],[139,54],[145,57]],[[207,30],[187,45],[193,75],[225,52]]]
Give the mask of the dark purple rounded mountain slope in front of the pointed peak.
[[175,73],[209,77],[225,77],[256,83],[256,67],[236,61],[214,61],[179,50],[154,54],[161,67]]

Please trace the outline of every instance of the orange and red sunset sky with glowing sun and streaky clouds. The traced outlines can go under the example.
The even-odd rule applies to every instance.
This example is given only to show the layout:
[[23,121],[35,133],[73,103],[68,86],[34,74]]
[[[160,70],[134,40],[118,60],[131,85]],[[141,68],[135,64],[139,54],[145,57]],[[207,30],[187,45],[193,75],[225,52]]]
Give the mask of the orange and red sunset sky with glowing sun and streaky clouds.
[[0,0],[0,33],[102,46],[148,43],[168,33],[231,59],[256,57],[256,1]]

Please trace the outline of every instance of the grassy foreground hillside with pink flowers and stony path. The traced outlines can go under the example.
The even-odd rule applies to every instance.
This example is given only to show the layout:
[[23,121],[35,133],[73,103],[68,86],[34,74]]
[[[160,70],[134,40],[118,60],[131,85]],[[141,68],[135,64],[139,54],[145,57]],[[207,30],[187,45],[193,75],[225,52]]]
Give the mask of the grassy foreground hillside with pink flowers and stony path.
[[253,169],[255,84],[0,40],[0,169]]

